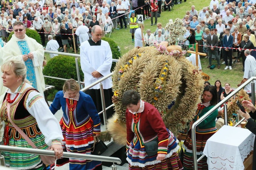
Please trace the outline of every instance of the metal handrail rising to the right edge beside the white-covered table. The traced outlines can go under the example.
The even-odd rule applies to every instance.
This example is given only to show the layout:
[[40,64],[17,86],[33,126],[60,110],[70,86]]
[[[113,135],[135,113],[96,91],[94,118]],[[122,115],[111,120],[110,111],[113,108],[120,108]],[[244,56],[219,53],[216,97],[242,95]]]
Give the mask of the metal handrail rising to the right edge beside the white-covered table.
[[[248,85],[249,83],[252,83],[252,102],[255,105],[255,87],[254,84],[255,82],[252,82],[256,80],[256,77],[251,77],[250,79],[248,79],[245,83],[243,83],[241,86],[239,86],[236,90],[234,90],[233,92],[231,92],[230,95],[228,95],[227,97],[225,97],[225,99],[223,99],[221,102],[219,102],[218,104],[216,104],[212,109],[210,109],[210,111],[208,111],[206,114],[204,114],[201,118],[199,118],[196,122],[193,123],[192,128],[191,128],[191,139],[192,139],[192,152],[193,152],[193,164],[194,164],[194,170],[197,170],[197,163],[199,162],[199,160],[201,160],[205,155],[202,155],[198,160],[197,160],[197,150],[196,150],[196,126],[201,123],[204,119],[206,119],[208,116],[210,116],[216,109],[218,109],[218,107],[220,107],[222,104],[226,103],[230,98],[232,98],[237,92],[239,92],[240,90],[242,90],[246,85]],[[224,115],[226,117],[226,115]],[[244,119],[242,119],[244,120]],[[240,123],[242,122],[239,121]],[[237,126],[238,124],[236,124]]]

